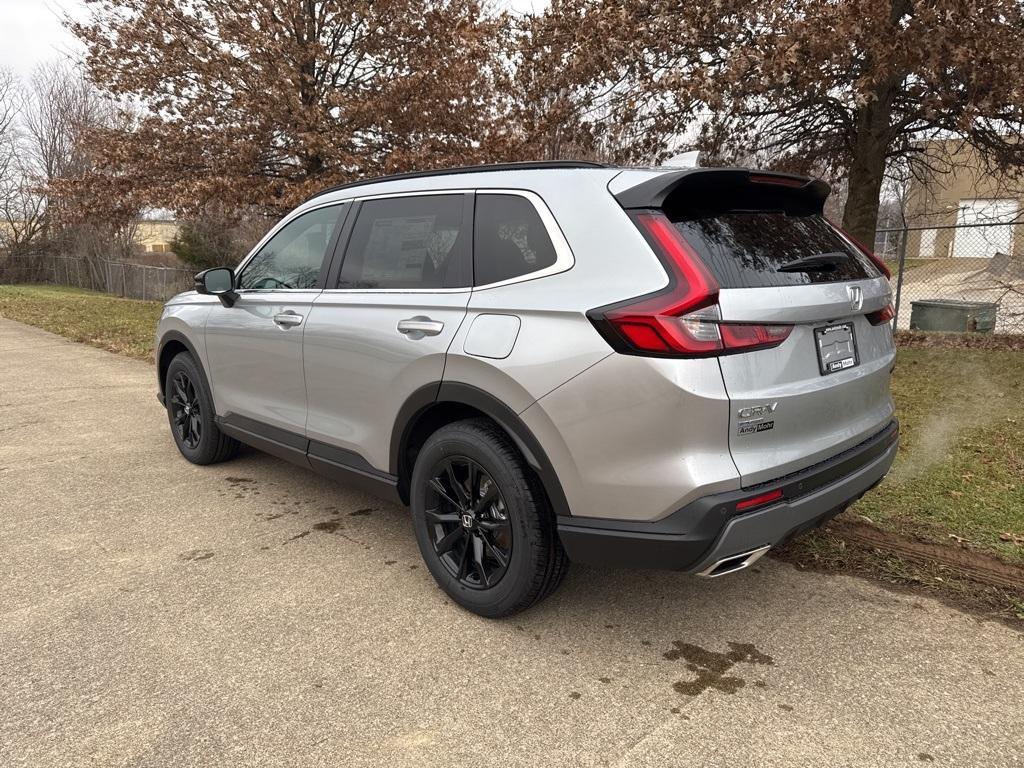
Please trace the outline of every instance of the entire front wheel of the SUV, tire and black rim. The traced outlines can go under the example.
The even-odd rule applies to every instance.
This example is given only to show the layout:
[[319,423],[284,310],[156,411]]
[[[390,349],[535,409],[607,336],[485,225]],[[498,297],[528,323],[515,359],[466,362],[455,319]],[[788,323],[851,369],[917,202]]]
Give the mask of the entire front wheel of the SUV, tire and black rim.
[[164,401],[174,442],[193,464],[217,464],[238,453],[239,441],[217,427],[210,387],[188,352],[178,352],[167,367]]

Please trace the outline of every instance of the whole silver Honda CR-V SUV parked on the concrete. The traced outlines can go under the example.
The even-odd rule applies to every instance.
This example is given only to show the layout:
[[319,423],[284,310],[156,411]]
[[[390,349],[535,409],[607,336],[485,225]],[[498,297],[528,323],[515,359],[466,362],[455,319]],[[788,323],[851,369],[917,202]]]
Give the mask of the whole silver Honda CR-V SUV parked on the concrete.
[[329,189],[158,330],[181,454],[239,441],[412,508],[485,616],[568,562],[718,577],[896,453],[888,271],[828,186],[531,163]]

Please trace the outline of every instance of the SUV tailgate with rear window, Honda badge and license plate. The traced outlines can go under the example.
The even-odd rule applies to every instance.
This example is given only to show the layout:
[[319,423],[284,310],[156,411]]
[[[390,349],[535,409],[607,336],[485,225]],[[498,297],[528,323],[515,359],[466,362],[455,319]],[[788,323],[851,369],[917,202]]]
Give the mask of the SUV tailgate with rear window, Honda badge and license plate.
[[793,326],[775,348],[719,357],[743,485],[834,456],[893,416],[889,283],[820,213],[785,200],[740,189],[670,213],[718,281],[722,322]]

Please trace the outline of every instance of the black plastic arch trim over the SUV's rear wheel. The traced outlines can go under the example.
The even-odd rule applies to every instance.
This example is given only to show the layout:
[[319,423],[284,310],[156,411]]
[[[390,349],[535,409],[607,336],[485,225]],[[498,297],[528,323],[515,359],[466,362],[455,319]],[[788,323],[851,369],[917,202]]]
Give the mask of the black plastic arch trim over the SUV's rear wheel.
[[472,384],[457,381],[433,382],[422,386],[414,391],[398,410],[398,416],[391,430],[389,472],[398,477],[400,494],[408,494],[409,478],[412,475],[412,467],[404,466],[404,456],[413,429],[427,411],[445,402],[468,406],[498,424],[522,454],[526,464],[537,473],[555,514],[558,516],[571,514],[554,466],[519,415],[489,392]]

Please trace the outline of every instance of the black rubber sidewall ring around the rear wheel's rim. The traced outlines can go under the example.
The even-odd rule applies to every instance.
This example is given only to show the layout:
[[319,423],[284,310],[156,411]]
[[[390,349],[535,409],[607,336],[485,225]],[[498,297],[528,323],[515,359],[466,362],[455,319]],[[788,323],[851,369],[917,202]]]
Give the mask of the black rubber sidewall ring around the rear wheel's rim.
[[[489,589],[473,589],[459,582],[434,552],[426,519],[427,483],[434,466],[445,458],[466,457],[479,464],[505,500],[512,525],[512,555],[501,581]],[[536,515],[530,488],[521,470],[508,466],[488,439],[475,431],[453,425],[442,429],[424,444],[416,458],[410,487],[410,506],[416,541],[431,575],[456,602],[483,615],[500,615],[523,599],[537,567],[537,543],[530,536],[530,516]]]

